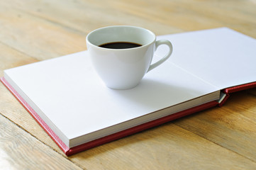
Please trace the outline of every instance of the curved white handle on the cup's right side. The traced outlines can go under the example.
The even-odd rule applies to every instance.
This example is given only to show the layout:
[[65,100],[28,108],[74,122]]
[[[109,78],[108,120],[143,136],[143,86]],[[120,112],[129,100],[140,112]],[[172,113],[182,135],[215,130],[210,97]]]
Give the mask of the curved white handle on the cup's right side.
[[167,45],[169,47],[169,52],[167,53],[167,55],[165,55],[165,57],[162,57],[161,60],[155,62],[154,64],[151,64],[148,68],[148,72],[165,62],[172,55],[172,43],[169,42],[169,40],[157,40],[157,42],[155,42],[155,50],[157,50],[157,47],[159,47],[160,45]]

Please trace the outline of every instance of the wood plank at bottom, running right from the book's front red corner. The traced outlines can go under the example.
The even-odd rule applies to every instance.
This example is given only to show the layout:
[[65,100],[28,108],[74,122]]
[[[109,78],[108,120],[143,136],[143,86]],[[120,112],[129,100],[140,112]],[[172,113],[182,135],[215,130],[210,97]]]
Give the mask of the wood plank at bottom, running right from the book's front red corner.
[[70,157],[87,169],[255,169],[256,163],[167,123]]

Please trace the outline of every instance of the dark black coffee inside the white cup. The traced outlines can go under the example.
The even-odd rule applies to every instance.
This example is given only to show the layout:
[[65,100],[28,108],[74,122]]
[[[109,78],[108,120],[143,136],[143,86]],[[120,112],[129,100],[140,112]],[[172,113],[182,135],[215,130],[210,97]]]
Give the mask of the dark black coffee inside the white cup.
[[140,44],[136,44],[134,42],[108,42],[103,45],[99,45],[99,47],[104,48],[112,48],[112,49],[126,49],[126,48],[133,48],[133,47],[140,47]]

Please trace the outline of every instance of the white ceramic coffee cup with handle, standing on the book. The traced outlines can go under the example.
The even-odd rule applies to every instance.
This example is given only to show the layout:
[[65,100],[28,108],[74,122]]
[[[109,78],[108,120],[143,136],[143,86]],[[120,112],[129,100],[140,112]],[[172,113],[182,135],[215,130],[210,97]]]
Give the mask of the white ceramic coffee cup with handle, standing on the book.
[[[112,49],[99,47],[109,42],[133,42],[140,47]],[[161,60],[151,64],[159,45],[167,45],[169,51]],[[172,54],[169,40],[157,40],[155,34],[135,26],[109,26],[87,35],[87,50],[92,65],[106,86],[111,89],[131,89],[140,83],[144,75],[165,62]]]

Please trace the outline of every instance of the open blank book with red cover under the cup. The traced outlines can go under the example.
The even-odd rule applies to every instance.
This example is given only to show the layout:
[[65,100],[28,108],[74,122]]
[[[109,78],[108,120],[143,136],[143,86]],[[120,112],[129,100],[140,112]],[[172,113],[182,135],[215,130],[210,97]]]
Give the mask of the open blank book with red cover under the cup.
[[108,89],[87,51],[7,69],[1,81],[67,155],[222,105],[230,92],[256,86],[256,40],[247,35],[216,28],[157,38],[172,42],[172,56],[133,89]]

